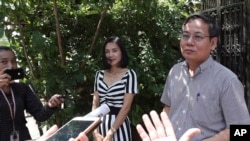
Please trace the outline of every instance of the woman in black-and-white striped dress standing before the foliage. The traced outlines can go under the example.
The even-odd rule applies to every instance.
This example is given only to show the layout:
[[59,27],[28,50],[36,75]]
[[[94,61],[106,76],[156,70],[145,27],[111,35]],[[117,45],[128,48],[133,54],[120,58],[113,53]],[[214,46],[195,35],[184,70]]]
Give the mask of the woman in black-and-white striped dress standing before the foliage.
[[128,68],[128,55],[119,37],[109,37],[103,46],[104,70],[96,73],[92,110],[107,104],[110,113],[93,135],[98,141],[132,141],[128,113],[138,93],[137,76]]

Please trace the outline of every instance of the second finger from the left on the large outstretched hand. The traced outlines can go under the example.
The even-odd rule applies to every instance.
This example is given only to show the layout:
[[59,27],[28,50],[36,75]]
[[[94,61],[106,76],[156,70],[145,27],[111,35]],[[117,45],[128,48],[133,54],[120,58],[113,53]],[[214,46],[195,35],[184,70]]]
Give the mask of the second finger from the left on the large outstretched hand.
[[148,131],[150,139],[151,140],[157,139],[158,138],[158,134],[157,134],[157,132],[155,130],[155,127],[152,124],[152,121],[149,118],[149,116],[147,114],[144,114],[142,116],[142,119],[143,119],[144,125],[145,125],[145,127],[146,127],[146,129]]

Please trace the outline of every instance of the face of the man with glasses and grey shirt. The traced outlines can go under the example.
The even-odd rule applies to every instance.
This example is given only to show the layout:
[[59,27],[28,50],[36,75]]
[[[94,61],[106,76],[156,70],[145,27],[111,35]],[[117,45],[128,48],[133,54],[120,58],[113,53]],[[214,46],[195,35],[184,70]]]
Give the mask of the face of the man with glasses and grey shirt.
[[217,45],[217,38],[209,37],[208,24],[202,19],[191,19],[183,28],[180,48],[188,63],[204,62]]

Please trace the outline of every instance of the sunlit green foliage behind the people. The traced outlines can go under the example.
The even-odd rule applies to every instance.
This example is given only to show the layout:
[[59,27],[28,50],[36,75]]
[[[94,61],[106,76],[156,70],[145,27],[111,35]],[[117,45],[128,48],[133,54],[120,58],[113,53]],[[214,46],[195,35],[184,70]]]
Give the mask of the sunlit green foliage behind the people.
[[65,62],[60,59],[53,7],[53,1],[45,0],[0,2],[0,35],[5,32],[19,65],[26,68],[27,79],[23,81],[32,83],[45,101],[66,88],[74,97],[66,100],[67,108],[48,124],[62,125],[90,111],[95,73],[102,69],[102,44],[111,35],[124,39],[129,67],[138,75],[139,94],[130,112],[132,124],[140,123],[143,113],[161,111],[167,73],[181,57],[178,35],[182,21],[199,5],[191,0],[57,0]]

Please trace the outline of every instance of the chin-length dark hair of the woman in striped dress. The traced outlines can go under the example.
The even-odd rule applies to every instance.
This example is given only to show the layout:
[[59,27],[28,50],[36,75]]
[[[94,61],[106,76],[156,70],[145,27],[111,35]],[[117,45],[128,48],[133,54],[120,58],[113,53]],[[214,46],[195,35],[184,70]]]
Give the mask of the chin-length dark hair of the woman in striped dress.
[[119,37],[111,36],[111,37],[106,39],[106,41],[103,45],[103,49],[102,49],[102,62],[103,62],[104,69],[110,69],[110,67],[111,67],[110,64],[108,63],[106,55],[105,55],[105,48],[106,48],[106,45],[108,43],[116,43],[116,45],[120,48],[121,53],[122,53],[120,67],[126,68],[128,66],[128,63],[129,63],[129,58],[128,58],[128,54],[127,54],[125,45]]

